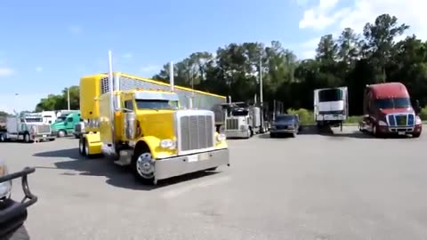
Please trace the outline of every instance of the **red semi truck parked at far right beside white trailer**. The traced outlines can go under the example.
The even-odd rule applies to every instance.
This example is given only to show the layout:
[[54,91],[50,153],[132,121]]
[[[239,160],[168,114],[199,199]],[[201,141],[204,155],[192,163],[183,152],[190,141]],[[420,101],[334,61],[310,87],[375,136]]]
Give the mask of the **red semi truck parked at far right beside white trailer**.
[[401,83],[367,85],[363,100],[364,118],[359,123],[361,132],[371,132],[375,137],[385,135],[421,135],[423,124],[420,106],[411,104],[407,87]]

